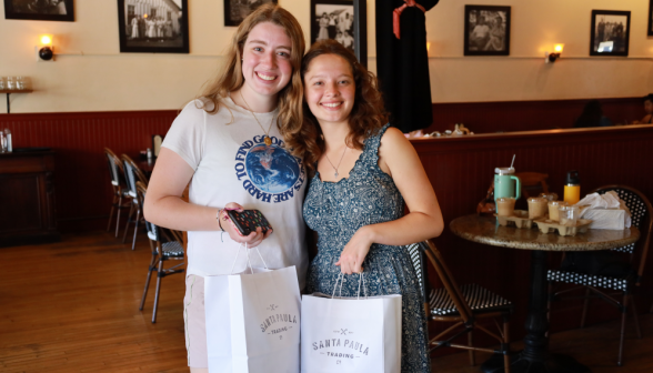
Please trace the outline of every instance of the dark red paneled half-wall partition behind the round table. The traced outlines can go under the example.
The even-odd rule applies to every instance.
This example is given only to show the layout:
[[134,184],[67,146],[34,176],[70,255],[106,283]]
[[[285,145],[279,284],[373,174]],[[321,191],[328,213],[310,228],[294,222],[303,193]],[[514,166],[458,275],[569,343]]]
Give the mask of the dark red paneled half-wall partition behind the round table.
[[[514,168],[518,172],[547,173],[550,191],[560,196],[566,171],[577,170],[582,195],[602,185],[625,184],[653,199],[653,125],[480,134],[412,142],[435,189],[445,224],[475,212],[493,179],[494,168],[509,167],[513,154],[516,154]],[[449,228],[435,244],[459,283],[479,283],[515,302],[513,335],[524,335],[531,252],[472,243],[454,236]],[[560,260],[559,254],[550,255],[550,265],[560,265]],[[652,270],[649,264],[644,272],[639,292],[644,295],[640,299],[640,310],[651,306]],[[590,323],[619,315],[616,309],[603,303],[594,301]],[[554,304],[552,330],[577,327],[580,306],[581,301]]]

